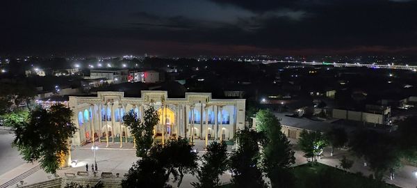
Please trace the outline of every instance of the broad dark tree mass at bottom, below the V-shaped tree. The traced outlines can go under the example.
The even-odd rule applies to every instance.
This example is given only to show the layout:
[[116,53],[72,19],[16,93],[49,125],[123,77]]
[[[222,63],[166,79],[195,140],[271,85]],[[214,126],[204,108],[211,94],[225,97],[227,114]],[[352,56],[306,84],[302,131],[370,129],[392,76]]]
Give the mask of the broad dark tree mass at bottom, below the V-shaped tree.
[[131,167],[122,187],[170,187],[170,175],[179,187],[185,173],[197,170],[197,153],[191,152],[192,148],[184,139],[168,141],[165,146],[155,144]]

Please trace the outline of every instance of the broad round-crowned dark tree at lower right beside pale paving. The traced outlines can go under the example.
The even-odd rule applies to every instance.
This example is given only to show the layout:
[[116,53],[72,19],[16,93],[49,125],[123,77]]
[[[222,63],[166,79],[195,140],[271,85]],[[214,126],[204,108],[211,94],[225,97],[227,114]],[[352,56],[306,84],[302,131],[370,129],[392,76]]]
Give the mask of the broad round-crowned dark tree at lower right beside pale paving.
[[369,162],[370,169],[379,180],[386,171],[400,166],[395,139],[383,132],[357,130],[350,141],[350,150]]

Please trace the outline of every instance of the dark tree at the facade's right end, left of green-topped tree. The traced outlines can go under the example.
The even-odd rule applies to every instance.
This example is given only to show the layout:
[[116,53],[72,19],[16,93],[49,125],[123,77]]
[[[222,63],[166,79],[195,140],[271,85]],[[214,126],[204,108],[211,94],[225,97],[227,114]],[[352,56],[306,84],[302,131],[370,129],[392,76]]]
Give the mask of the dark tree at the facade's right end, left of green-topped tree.
[[264,135],[245,127],[236,132],[238,149],[231,154],[229,168],[234,187],[266,187],[261,169],[258,167],[261,155],[259,143]]

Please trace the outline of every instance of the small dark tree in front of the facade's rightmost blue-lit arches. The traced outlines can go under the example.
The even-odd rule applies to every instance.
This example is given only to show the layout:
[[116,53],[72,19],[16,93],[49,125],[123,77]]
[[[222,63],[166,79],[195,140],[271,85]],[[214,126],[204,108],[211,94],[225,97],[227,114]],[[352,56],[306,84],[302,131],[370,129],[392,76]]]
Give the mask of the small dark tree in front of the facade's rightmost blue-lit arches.
[[199,182],[193,182],[192,185],[198,188],[218,187],[219,176],[227,170],[228,162],[226,143],[212,142],[202,156],[202,166],[197,171]]

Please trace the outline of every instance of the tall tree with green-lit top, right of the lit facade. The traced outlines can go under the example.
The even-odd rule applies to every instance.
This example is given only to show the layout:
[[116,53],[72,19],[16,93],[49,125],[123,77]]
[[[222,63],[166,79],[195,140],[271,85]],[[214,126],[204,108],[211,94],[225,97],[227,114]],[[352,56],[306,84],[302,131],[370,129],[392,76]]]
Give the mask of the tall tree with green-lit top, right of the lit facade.
[[260,110],[256,113],[256,130],[266,136],[262,164],[272,187],[293,187],[294,177],[288,168],[295,163],[294,151],[288,138],[281,132],[281,123],[271,111]]

